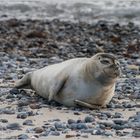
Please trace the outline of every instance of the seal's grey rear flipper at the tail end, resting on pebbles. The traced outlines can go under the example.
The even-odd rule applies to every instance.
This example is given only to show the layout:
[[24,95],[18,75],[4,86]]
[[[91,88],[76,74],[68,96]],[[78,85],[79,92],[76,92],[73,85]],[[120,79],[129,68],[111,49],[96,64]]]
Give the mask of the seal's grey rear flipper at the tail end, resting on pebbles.
[[31,88],[31,73],[27,73],[23,76],[22,79],[18,80],[15,85],[15,88]]

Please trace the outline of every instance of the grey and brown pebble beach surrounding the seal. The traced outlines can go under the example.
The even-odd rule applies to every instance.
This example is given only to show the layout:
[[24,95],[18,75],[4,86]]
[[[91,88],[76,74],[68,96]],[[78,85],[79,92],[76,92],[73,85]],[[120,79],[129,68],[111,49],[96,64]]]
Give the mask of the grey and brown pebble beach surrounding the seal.
[[[99,21],[87,24],[58,19],[0,21],[0,85],[7,85],[7,88],[0,87],[0,102],[4,105],[0,108],[0,131],[7,134],[8,130],[23,129],[20,135],[6,137],[15,139],[31,138],[28,133],[37,138],[50,135],[58,138],[61,135],[140,137],[139,32],[140,27],[133,23],[120,25]],[[29,71],[75,57],[90,57],[101,50],[115,54],[123,71],[116,94],[106,109],[66,108],[54,101],[48,102],[32,90],[10,88],[9,83],[13,84]],[[46,108],[50,112],[70,112],[74,117],[69,116],[64,121],[59,116],[48,118],[46,115],[46,120],[42,120]],[[124,116],[126,112],[128,117]],[[131,112],[133,116],[129,115]],[[9,121],[10,116],[14,122]],[[34,123],[38,119],[41,126]],[[130,132],[125,131],[128,128]]]

